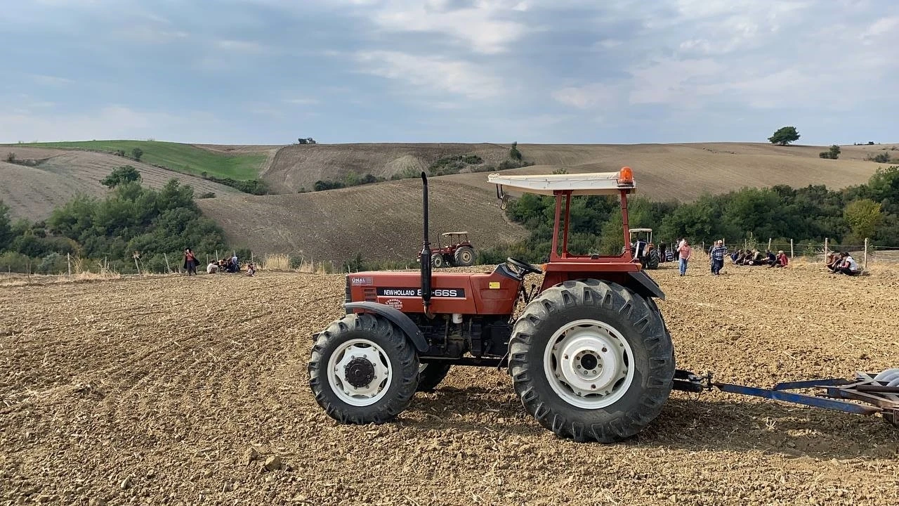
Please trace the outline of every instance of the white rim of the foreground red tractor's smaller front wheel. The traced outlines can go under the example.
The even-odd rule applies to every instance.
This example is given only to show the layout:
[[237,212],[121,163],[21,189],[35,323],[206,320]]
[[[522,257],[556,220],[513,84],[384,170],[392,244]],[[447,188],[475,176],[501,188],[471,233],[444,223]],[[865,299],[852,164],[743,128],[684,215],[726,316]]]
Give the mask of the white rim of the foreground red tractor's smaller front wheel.
[[[374,366],[375,377],[371,383],[356,387],[347,379],[347,366],[355,358],[368,360]],[[387,393],[392,378],[390,359],[383,348],[369,339],[350,339],[334,350],[328,359],[328,384],[341,401],[351,406],[370,406],[380,401]]]

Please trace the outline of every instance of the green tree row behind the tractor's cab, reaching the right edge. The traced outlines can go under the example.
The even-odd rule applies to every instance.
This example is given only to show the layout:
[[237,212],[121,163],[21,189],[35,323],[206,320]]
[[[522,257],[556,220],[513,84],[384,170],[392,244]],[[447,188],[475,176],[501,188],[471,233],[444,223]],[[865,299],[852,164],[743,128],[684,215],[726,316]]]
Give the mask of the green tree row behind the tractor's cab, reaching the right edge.
[[[518,244],[482,250],[479,260],[496,263],[512,256],[539,262],[549,253],[555,200],[525,194],[506,208],[512,221],[530,230]],[[899,244],[899,167],[881,167],[866,185],[839,191],[823,185],[791,188],[743,188],[727,194],[705,194],[693,203],[628,201],[631,228],[653,228],[657,241],[687,237],[692,242],[756,237],[789,242]],[[617,197],[572,200],[569,249],[579,254],[619,252],[624,246]]]

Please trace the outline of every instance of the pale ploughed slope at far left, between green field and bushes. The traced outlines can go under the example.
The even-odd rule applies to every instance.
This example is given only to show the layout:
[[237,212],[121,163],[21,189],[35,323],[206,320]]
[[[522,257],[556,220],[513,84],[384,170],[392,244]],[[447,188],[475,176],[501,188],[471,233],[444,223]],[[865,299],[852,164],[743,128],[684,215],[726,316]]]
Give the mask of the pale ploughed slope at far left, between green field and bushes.
[[0,162],[0,200],[10,206],[13,218],[42,220],[49,216],[54,207],[67,203],[75,194],[101,196],[107,191],[106,186],[100,184],[102,178],[123,165],[136,167],[145,184],[152,187],[161,187],[174,177],[184,185],[193,186],[197,195],[206,192],[217,196],[238,193],[230,186],[200,177],[93,151],[18,146],[10,150],[22,160],[46,160],[36,167]]

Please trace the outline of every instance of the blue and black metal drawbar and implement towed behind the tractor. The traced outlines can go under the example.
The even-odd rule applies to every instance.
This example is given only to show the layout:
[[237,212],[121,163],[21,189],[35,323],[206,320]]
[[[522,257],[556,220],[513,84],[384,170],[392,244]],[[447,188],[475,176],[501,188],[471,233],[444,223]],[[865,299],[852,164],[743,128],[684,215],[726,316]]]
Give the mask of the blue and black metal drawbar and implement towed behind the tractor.
[[[856,373],[854,380],[824,378],[775,384],[773,388],[759,388],[742,384],[717,383],[712,375],[694,375],[678,370],[674,375],[675,390],[702,392],[716,387],[722,392],[741,393],[774,401],[805,404],[825,410],[844,411],[860,415],[880,413],[884,420],[899,427],[899,369],[881,373]],[[814,395],[788,392],[799,389],[818,389]],[[870,405],[859,404],[859,401]]]

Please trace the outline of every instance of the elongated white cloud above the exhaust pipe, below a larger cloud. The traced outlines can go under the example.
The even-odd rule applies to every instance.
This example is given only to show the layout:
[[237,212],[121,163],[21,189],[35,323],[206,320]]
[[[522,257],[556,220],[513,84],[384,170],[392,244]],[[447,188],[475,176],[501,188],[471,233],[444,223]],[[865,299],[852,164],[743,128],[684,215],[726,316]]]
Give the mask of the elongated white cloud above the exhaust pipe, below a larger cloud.
[[410,94],[451,93],[472,99],[500,95],[503,82],[485,69],[462,60],[420,57],[398,51],[362,51],[356,55],[362,71],[405,81]]

